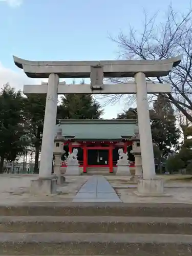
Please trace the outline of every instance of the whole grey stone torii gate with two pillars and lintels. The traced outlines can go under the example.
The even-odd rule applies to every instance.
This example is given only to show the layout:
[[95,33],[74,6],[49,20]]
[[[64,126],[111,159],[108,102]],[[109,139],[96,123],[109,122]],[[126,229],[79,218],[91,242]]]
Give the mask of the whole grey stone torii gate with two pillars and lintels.
[[[161,194],[163,184],[155,179],[155,164],[147,93],[168,93],[170,84],[146,82],[145,77],[166,76],[179,65],[181,56],[164,60],[106,61],[29,61],[13,56],[15,65],[28,77],[49,78],[48,83],[25,85],[25,94],[47,94],[42,136],[39,180],[32,182],[40,192],[51,193],[55,122],[58,94],[136,94],[143,179],[138,181],[139,194]],[[59,78],[91,78],[91,84],[59,83]],[[133,83],[103,84],[104,77],[134,77]],[[35,185],[36,184],[36,185]]]

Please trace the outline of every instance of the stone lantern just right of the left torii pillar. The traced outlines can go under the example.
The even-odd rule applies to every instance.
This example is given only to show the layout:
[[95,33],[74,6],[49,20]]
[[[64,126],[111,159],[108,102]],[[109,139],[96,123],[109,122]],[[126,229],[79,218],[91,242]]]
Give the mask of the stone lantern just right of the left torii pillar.
[[54,140],[54,174],[57,176],[57,184],[61,185],[65,181],[65,177],[61,175],[61,155],[64,153],[63,151],[63,142],[65,141],[65,138],[62,136],[62,129],[60,128],[60,125],[57,129],[57,135],[55,136]]

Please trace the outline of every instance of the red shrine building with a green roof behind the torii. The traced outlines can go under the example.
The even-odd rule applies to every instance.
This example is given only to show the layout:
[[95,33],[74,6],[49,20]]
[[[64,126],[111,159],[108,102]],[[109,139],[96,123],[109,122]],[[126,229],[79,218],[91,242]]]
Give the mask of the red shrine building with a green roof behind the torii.
[[[134,168],[134,156],[130,151],[136,123],[136,120],[127,119],[65,119],[60,120],[56,126],[62,129],[65,138],[65,156],[72,153],[74,148],[78,149],[77,158],[83,173],[99,168],[113,173],[119,159],[119,148],[128,152],[130,169]],[[62,161],[61,168],[66,166],[66,162]]]

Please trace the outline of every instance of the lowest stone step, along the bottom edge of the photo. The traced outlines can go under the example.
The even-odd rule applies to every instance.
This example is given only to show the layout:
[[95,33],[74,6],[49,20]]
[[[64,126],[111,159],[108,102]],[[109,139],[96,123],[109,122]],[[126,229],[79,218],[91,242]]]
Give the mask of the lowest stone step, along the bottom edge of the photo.
[[0,255],[191,256],[192,236],[122,233],[0,233]]

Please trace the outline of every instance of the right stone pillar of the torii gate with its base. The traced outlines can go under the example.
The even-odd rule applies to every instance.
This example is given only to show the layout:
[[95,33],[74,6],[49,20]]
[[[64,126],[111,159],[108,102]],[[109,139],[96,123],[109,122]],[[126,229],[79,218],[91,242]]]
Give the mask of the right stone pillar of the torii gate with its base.
[[155,179],[155,162],[147,99],[146,77],[142,72],[135,74],[137,88],[137,115],[140,135],[143,179],[138,179],[136,194],[138,196],[164,195],[163,180]]

